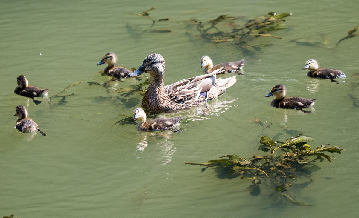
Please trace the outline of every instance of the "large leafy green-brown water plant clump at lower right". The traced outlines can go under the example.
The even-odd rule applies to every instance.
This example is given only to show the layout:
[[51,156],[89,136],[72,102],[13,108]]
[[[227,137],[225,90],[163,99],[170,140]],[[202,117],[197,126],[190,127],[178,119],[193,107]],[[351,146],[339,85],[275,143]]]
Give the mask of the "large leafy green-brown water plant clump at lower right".
[[[243,158],[237,155],[226,155],[227,159],[210,160],[207,163],[188,163],[191,165],[205,166],[202,172],[208,167],[215,167],[217,176],[220,178],[232,179],[241,176],[241,179],[252,181],[247,188],[251,195],[257,196],[261,193],[261,186],[265,185],[272,189],[270,197],[276,196],[278,200],[288,200],[295,205],[312,206],[298,202],[289,196],[288,192],[294,195],[293,187],[304,188],[313,180],[311,173],[320,169],[314,162],[327,159],[332,162],[335,157],[328,156],[323,152],[341,153],[344,149],[338,146],[327,147],[323,144],[314,149],[309,146],[308,141],[312,137],[302,136],[287,139],[285,142],[274,141],[269,137],[262,136],[262,144],[258,150],[266,152],[267,156],[253,155],[251,158]],[[275,151],[280,150],[279,155]],[[307,179],[305,179],[307,178]],[[302,182],[302,179],[306,182]],[[309,181],[308,181],[309,179]],[[288,192],[287,192],[288,191]]]

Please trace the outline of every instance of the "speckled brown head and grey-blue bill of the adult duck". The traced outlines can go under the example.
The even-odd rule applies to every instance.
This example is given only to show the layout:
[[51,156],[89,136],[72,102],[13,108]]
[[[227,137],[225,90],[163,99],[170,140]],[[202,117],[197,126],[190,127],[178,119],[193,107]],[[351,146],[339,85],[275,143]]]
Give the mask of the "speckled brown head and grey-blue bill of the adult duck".
[[162,77],[164,76],[164,71],[166,70],[166,64],[164,63],[164,58],[160,54],[150,54],[143,60],[142,65],[129,74],[130,77],[139,76],[143,73],[149,73],[153,77]]

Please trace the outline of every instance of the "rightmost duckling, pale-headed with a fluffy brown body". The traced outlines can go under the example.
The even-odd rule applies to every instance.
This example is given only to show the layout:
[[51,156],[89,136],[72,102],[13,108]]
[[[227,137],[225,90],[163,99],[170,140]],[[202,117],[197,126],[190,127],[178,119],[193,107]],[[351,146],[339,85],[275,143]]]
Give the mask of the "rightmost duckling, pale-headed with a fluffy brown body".
[[303,67],[302,70],[306,69],[309,70],[309,72],[307,73],[307,76],[309,77],[330,79],[330,81],[337,83],[339,81],[335,81],[334,78],[345,78],[345,74],[340,70],[319,68],[319,63],[315,59],[310,59],[306,62],[306,66]]

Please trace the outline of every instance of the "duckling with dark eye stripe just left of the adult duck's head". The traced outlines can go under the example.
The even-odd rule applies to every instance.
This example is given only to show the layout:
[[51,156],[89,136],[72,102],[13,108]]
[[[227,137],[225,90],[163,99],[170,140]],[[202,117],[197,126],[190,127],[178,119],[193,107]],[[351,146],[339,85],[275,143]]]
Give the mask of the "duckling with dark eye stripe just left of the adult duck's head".
[[116,78],[126,78],[132,71],[124,67],[115,67],[116,61],[116,54],[109,52],[102,57],[102,60],[98,62],[97,66],[102,65],[103,63],[107,63],[107,67],[103,70],[105,74]]

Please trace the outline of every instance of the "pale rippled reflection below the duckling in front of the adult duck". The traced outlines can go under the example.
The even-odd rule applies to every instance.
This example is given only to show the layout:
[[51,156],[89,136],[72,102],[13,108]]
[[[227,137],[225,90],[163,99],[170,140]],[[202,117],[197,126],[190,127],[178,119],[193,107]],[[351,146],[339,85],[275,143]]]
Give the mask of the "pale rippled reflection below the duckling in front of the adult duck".
[[155,146],[160,150],[155,154],[155,161],[159,161],[161,164],[167,164],[172,161],[172,155],[176,152],[177,148],[173,147],[174,144],[170,141],[172,134],[176,132],[171,131],[157,131],[157,132],[139,132],[139,135],[143,135],[143,139],[137,143],[136,150],[138,153],[145,151],[149,145]]

